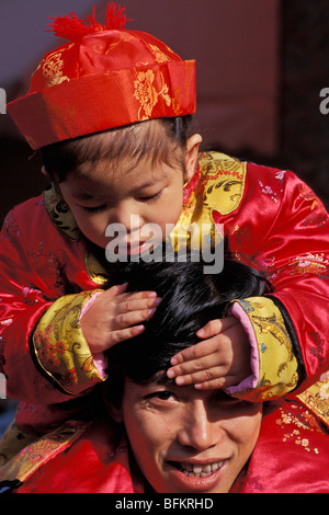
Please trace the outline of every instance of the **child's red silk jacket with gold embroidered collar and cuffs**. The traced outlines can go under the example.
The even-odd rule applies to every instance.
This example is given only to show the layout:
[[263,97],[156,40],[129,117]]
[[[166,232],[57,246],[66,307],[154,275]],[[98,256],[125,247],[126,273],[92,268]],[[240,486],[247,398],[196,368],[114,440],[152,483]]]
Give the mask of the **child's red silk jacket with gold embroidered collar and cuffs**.
[[[324,384],[315,385],[328,380],[329,356],[329,217],[321,202],[290,171],[204,153],[177,227],[204,221],[223,224],[229,250],[265,271],[275,288],[239,300],[260,369],[256,388],[236,394],[268,400],[294,391],[328,421]],[[41,433],[60,420],[57,403],[103,380],[79,316],[107,272],[55,187],[16,206],[0,238],[0,371],[8,396],[33,407],[16,422]]]

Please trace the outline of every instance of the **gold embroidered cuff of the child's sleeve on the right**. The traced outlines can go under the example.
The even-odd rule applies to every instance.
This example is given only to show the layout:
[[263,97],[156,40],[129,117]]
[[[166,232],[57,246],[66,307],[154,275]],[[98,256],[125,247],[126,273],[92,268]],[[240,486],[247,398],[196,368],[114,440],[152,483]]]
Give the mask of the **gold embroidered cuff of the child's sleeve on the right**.
[[258,370],[256,387],[235,392],[234,397],[260,402],[285,396],[297,386],[298,362],[280,309],[268,297],[237,302],[249,319]]

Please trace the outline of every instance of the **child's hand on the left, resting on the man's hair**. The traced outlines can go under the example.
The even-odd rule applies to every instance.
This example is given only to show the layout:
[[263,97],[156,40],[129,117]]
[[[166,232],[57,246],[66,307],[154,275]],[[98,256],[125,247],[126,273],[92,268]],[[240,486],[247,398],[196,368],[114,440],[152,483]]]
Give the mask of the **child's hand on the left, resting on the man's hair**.
[[93,354],[140,334],[140,322],[152,317],[160,304],[156,291],[126,294],[126,288],[124,284],[104,291],[81,317],[80,327]]

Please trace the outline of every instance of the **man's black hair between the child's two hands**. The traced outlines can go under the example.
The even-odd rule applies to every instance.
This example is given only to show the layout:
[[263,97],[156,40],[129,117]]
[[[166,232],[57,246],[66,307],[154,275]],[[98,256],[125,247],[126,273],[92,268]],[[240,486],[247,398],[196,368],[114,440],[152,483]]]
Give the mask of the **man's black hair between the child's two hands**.
[[248,265],[225,260],[219,274],[204,274],[203,262],[132,263],[117,277],[128,291],[155,290],[162,298],[145,331],[107,351],[109,389],[120,401],[124,378],[149,381],[170,366],[170,358],[200,340],[196,331],[222,318],[231,300],[271,290],[264,277]]

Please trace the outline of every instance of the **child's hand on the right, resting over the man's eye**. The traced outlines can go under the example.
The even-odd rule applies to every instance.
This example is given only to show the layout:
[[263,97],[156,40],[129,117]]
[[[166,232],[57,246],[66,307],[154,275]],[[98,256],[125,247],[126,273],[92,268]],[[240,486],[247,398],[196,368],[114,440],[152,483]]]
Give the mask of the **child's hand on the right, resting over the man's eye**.
[[250,343],[235,317],[211,320],[196,335],[202,342],[179,352],[170,360],[169,378],[198,389],[228,388],[251,375]]

